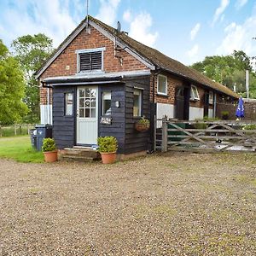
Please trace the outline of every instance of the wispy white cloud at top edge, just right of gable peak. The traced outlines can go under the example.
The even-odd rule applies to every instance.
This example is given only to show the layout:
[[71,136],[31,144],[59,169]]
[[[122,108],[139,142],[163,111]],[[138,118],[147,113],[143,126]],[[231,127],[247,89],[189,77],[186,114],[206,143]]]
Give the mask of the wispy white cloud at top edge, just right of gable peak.
[[101,6],[99,13],[96,15],[96,19],[113,26],[120,0],[100,0],[100,3]]

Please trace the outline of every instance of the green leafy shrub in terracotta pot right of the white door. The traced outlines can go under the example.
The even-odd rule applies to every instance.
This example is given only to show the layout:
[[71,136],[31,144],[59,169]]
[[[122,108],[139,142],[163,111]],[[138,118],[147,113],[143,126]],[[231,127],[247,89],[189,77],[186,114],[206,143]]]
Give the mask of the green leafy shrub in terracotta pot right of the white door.
[[116,151],[118,148],[117,139],[112,136],[98,137],[98,147],[98,151],[102,155],[102,163],[113,164],[116,160]]

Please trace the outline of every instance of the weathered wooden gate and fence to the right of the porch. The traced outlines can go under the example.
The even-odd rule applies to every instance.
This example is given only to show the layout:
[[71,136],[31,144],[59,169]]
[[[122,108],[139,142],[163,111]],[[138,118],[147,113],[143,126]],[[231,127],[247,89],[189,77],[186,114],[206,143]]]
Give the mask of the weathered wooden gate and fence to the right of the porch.
[[175,151],[250,151],[256,152],[255,121],[188,121],[158,119],[155,148]]

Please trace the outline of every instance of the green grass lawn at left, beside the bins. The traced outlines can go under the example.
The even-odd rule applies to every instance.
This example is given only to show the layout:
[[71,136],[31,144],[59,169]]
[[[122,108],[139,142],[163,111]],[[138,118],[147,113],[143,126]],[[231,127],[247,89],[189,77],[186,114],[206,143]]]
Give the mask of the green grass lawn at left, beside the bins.
[[0,158],[9,158],[24,163],[44,162],[44,155],[32,148],[28,136],[0,138]]

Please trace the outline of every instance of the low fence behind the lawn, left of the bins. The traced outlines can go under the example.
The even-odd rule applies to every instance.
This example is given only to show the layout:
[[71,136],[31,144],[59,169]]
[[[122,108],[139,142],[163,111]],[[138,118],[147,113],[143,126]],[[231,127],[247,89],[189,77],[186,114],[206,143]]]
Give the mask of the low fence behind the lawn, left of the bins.
[[0,137],[11,137],[11,136],[20,136],[20,135],[29,135],[30,130],[34,129],[35,125],[32,124],[22,124],[22,125],[9,125],[1,126],[0,125]]

